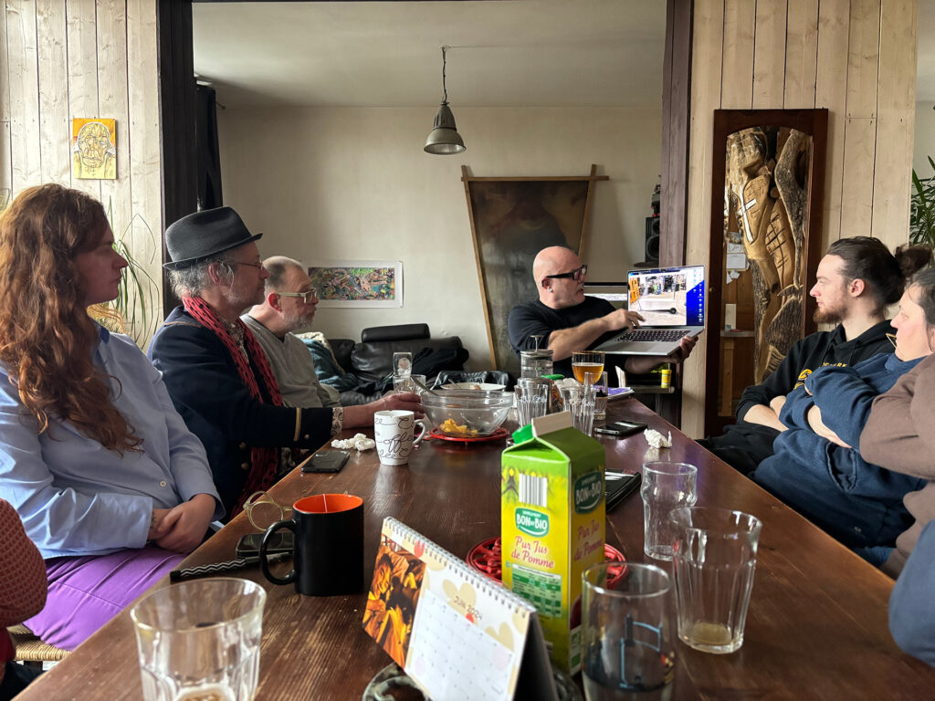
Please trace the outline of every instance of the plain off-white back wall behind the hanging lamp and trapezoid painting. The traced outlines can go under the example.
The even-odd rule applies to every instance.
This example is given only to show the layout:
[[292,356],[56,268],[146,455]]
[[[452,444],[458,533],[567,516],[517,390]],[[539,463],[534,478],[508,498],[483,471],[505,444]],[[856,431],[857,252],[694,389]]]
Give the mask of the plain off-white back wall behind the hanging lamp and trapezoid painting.
[[597,164],[610,180],[597,182],[592,201],[588,277],[622,279],[643,258],[661,107],[453,112],[468,147],[460,156],[422,150],[435,108],[219,111],[223,198],[265,232],[264,256],[403,261],[403,308],[320,309],[316,330],[356,339],[367,326],[427,322],[433,336],[460,336],[470,366],[484,368],[490,353],[461,165],[481,178],[587,175]]

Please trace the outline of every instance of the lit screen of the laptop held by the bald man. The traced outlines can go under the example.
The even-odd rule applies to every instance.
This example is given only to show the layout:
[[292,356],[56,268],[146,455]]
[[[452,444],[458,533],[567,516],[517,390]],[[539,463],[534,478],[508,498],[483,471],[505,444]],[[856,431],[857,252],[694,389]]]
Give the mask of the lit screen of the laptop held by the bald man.
[[704,326],[704,265],[630,270],[626,280],[644,326]]

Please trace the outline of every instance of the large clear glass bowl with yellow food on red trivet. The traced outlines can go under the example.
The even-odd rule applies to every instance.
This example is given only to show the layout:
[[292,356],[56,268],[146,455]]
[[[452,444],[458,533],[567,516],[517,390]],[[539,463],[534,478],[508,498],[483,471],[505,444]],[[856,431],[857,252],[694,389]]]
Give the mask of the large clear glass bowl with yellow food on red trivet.
[[480,390],[423,394],[425,417],[447,436],[490,436],[507,418],[513,395]]

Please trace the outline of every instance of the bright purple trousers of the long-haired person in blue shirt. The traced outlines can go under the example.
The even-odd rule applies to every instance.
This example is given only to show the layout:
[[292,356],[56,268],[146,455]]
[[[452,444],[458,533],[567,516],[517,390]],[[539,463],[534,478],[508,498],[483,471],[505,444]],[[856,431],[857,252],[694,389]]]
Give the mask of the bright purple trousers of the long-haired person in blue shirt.
[[43,642],[74,650],[184,557],[148,546],[109,555],[47,560],[46,606],[23,624]]

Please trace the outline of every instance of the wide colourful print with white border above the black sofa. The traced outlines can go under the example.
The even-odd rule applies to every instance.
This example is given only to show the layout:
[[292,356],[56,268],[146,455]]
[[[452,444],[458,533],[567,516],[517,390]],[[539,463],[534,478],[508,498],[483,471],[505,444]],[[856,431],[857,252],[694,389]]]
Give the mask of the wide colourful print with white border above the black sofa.
[[321,308],[403,306],[402,261],[331,261],[309,265]]

